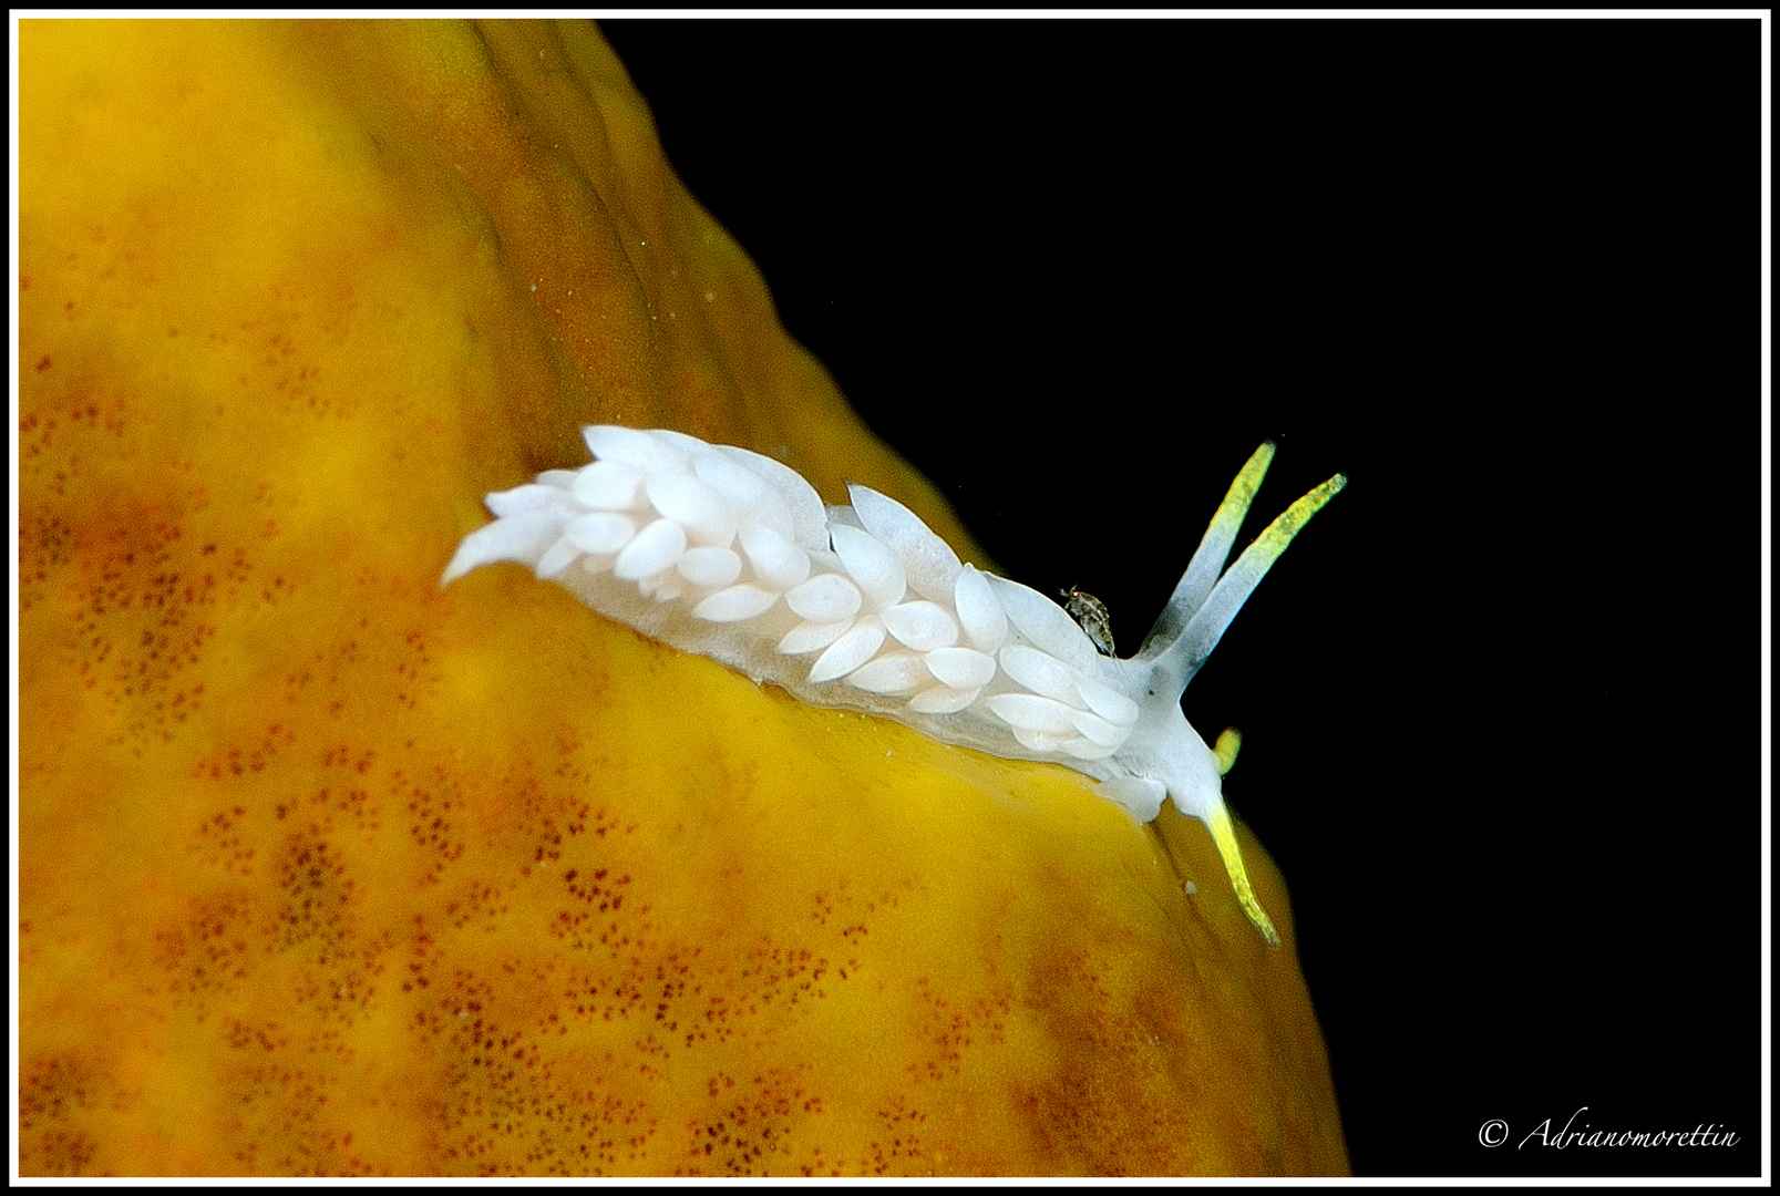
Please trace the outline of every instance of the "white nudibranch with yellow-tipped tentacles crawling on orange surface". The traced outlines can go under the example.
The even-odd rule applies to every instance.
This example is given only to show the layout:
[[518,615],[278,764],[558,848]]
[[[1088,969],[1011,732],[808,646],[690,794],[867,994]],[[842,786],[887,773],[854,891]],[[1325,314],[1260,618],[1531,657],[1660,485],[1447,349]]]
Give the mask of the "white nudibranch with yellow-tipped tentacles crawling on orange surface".
[[1223,803],[1241,740],[1230,730],[1207,748],[1180,694],[1344,475],[1223,571],[1273,459],[1271,441],[1257,448],[1143,648],[1118,659],[1050,598],[959,562],[876,489],[849,484],[853,505],[831,507],[796,470],[746,448],[618,425],[584,438],[591,465],[488,495],[495,521],[465,537],[441,586],[482,564],[525,564],[611,619],[801,701],[1066,765],[1139,822],[1169,797],[1210,829],[1244,913],[1278,945]]

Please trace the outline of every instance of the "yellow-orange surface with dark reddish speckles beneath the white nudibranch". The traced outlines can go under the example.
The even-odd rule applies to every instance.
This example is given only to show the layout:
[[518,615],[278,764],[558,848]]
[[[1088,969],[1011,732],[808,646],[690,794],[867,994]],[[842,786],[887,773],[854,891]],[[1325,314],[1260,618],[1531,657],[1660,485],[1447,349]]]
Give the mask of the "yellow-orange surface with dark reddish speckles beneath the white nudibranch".
[[1346,1169],[1251,840],[1283,950],[1173,812],[438,589],[595,420],[972,554],[593,27],[20,64],[27,1175]]

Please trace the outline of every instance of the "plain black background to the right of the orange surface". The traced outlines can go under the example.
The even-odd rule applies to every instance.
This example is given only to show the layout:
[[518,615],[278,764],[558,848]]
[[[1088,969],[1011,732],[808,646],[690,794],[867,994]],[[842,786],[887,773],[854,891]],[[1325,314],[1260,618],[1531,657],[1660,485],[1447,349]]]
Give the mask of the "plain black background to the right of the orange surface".
[[[1356,1173],[1760,1169],[1757,23],[603,28],[792,336],[1121,653],[1264,438],[1239,543],[1351,475],[1185,710]],[[1743,1144],[1518,1146],[1582,1105]]]

